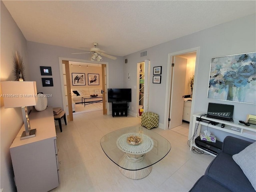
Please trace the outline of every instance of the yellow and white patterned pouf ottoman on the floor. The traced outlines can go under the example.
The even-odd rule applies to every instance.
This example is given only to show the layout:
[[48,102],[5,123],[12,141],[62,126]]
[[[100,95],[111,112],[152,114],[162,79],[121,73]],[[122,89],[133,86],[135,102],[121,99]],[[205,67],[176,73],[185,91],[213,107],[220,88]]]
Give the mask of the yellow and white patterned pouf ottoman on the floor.
[[141,116],[141,126],[146,127],[147,129],[152,129],[158,127],[159,116],[153,112],[142,113]]

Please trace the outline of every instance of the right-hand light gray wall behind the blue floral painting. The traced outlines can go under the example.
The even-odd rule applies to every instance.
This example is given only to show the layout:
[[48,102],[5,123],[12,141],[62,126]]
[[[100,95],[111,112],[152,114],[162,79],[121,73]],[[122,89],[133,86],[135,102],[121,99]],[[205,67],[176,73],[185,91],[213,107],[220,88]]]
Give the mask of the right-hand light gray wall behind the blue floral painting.
[[[206,112],[208,102],[233,104],[235,106],[234,118],[236,119],[245,120],[247,114],[256,114],[256,106],[253,104],[207,99],[212,57],[256,51],[255,14],[141,50],[140,52],[147,51],[147,56],[143,58],[140,58],[140,52],[125,56],[124,58],[128,59],[128,63],[125,64],[124,76],[126,77],[128,73],[131,75],[131,80],[125,78],[125,86],[132,88],[136,86],[136,66],[138,62],[142,62],[145,59],[150,60],[151,79],[153,67],[162,66],[162,83],[153,84],[150,81],[149,110],[159,114],[159,123],[163,125],[164,108],[166,107],[165,93],[168,54],[195,47],[200,47],[200,54],[198,58],[198,75],[195,82],[197,88],[193,90],[195,108],[192,114]],[[134,106],[134,110],[136,110],[135,91],[132,92],[132,103],[130,106]]]

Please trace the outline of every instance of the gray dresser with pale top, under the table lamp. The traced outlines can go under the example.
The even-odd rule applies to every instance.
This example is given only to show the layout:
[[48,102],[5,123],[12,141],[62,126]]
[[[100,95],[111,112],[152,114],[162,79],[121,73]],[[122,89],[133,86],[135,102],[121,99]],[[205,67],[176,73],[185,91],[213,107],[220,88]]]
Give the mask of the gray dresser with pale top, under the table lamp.
[[20,140],[24,125],[10,146],[17,191],[47,192],[60,183],[56,130],[52,107],[29,115],[36,136]]

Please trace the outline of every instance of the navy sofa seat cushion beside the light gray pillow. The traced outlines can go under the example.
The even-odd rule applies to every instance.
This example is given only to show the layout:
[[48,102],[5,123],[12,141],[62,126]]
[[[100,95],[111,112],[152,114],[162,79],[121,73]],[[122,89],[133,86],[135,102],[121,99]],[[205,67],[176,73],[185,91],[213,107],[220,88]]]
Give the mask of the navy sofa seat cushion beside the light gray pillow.
[[233,192],[255,191],[232,155],[220,152],[206,169],[205,175]]

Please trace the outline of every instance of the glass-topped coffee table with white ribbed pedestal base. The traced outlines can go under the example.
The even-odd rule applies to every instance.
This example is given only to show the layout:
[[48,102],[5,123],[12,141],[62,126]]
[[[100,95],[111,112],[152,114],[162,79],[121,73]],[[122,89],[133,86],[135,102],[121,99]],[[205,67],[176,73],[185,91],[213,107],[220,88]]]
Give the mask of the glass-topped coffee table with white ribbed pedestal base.
[[[128,144],[129,136],[139,136],[138,145]],[[166,138],[142,126],[121,128],[103,136],[100,140],[102,150],[120,172],[130,179],[148,176],[152,165],[162,160],[171,150]]]

